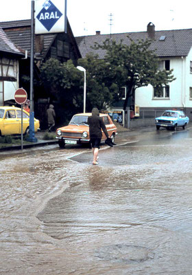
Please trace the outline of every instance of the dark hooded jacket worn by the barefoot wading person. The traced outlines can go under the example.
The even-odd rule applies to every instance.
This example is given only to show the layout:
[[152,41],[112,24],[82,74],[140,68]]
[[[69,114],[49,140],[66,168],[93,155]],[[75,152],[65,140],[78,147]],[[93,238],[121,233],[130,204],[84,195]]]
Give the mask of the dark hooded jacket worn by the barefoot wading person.
[[88,126],[89,126],[89,133],[90,137],[94,138],[101,138],[103,129],[106,137],[108,137],[108,131],[106,129],[106,125],[104,124],[104,120],[99,117],[99,110],[97,108],[93,108],[92,115],[88,117]]

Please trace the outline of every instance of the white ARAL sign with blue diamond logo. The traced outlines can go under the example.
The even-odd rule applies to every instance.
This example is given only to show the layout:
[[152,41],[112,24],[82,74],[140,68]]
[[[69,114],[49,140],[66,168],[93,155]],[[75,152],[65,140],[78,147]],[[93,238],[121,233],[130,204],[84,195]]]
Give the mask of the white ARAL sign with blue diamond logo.
[[36,0],[35,33],[64,32],[65,0]]

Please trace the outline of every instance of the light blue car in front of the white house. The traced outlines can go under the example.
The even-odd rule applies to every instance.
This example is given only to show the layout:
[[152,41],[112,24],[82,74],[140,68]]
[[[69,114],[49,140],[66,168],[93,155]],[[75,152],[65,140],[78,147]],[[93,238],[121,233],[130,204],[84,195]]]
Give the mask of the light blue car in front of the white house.
[[156,118],[155,122],[157,130],[160,127],[175,130],[178,126],[182,126],[182,129],[184,129],[189,123],[189,118],[183,111],[167,110],[159,118]]

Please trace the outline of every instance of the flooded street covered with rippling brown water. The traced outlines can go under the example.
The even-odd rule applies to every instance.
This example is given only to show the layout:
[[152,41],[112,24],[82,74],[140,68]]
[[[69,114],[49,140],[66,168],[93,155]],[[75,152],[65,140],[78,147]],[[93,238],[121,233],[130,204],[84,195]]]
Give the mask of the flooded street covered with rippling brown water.
[[192,274],[192,130],[1,153],[0,274]]

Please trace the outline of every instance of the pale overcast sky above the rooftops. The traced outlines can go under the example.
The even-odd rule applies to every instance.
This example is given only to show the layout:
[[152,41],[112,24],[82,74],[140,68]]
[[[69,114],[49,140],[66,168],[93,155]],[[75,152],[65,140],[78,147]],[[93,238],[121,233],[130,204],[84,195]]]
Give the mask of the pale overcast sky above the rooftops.
[[[31,18],[31,0],[0,3],[0,21]],[[67,0],[67,17],[74,36],[142,32],[149,22],[176,30],[192,28],[191,8],[191,0]]]

